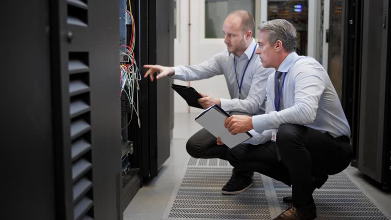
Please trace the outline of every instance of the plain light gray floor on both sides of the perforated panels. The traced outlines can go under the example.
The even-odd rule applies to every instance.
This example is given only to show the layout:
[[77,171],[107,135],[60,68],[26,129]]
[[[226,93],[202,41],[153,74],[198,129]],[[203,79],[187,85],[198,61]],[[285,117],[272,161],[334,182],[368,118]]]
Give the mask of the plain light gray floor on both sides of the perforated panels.
[[[182,181],[190,156],[185,145],[187,139],[201,126],[194,121],[197,114],[175,114],[175,127],[171,142],[171,156],[163,164],[158,176],[144,181],[141,188],[124,212],[125,220],[160,219],[169,205],[173,191]],[[391,193],[381,191],[377,184],[357,169],[346,170],[383,209],[391,214]]]

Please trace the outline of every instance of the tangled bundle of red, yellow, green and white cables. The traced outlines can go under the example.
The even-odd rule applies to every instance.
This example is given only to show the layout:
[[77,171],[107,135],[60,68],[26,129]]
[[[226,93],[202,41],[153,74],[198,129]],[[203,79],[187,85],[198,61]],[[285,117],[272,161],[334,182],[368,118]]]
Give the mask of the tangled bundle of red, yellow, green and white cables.
[[[141,74],[138,71],[136,61],[134,59],[134,42],[135,42],[135,26],[134,26],[134,19],[133,15],[131,13],[132,8],[130,6],[130,0],[129,0],[129,9],[130,11],[126,11],[128,14],[130,14],[130,17],[132,19],[132,34],[130,35],[130,43],[129,46],[127,45],[120,45],[120,47],[126,47],[126,52],[120,51],[120,56],[126,56],[129,58],[130,64],[122,64],[120,65],[120,82],[121,82],[121,92],[120,95],[122,95],[122,92],[124,92],[129,100],[130,104],[130,120],[128,124],[122,128],[125,129],[133,118],[133,110],[137,116],[137,122],[138,127],[141,128],[140,123],[140,117],[138,115],[138,90],[139,85],[138,81],[141,80]],[[135,100],[134,100],[134,93],[136,94]]]

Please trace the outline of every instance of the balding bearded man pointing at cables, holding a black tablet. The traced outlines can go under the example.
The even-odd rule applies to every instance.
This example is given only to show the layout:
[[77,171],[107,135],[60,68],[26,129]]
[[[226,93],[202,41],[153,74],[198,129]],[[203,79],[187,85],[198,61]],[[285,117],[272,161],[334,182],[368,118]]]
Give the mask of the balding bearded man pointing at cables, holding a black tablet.
[[[149,68],[144,77],[156,78],[169,76],[183,81],[192,81],[224,75],[231,99],[215,98],[201,94],[198,101],[208,108],[213,104],[221,106],[227,112],[241,112],[250,115],[265,113],[266,82],[274,69],[265,69],[255,54],[257,43],[253,39],[253,16],[244,10],[231,12],[225,19],[222,31],[227,49],[215,54],[209,60],[191,66],[164,67],[145,65]],[[190,137],[186,144],[187,152],[195,158],[227,159],[227,146],[216,145],[214,137],[206,129],[201,129]],[[221,193],[234,195],[242,193],[253,184],[253,171],[234,169],[231,179],[222,187]]]

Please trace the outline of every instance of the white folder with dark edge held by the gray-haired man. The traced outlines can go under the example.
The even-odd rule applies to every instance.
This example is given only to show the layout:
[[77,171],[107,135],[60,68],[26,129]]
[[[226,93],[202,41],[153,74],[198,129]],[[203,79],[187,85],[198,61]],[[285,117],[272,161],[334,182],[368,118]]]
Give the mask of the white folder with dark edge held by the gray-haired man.
[[253,135],[248,132],[238,133],[236,135],[231,134],[228,129],[224,127],[224,122],[228,117],[230,117],[230,115],[224,111],[224,109],[218,105],[212,105],[198,115],[197,118],[195,118],[195,121],[216,138],[220,137],[221,142],[229,148],[233,148],[253,137]]

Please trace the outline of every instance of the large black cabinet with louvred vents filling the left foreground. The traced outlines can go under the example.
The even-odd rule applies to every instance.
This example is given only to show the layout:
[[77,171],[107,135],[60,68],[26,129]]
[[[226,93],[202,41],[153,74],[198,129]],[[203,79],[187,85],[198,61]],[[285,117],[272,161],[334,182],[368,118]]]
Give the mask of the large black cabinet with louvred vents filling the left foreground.
[[119,219],[118,4],[2,8],[0,218]]

